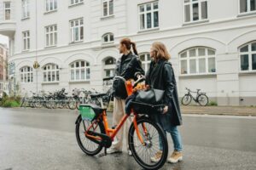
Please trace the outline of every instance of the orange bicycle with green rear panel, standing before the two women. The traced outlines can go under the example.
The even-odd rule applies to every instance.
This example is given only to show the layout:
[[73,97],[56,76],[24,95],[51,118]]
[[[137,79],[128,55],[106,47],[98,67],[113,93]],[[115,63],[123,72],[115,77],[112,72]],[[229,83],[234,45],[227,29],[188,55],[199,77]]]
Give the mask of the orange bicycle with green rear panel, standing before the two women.
[[[132,94],[132,89],[136,89],[139,82],[144,81],[140,78],[134,85],[125,81],[123,77],[114,77],[125,82],[128,95]],[[99,94],[101,95],[101,94]],[[107,155],[107,148],[112,145],[115,135],[124,125],[128,116],[133,116],[133,122],[129,129],[128,143],[137,163],[145,169],[159,169],[162,167],[168,155],[168,144],[166,135],[160,124],[154,122],[148,112],[137,113],[131,109],[131,114],[126,114],[116,127],[108,127],[107,111],[97,105],[79,105],[80,115],[76,120],[76,138],[79,147],[89,156],[95,156],[105,148],[104,155]],[[162,145],[162,155],[159,161],[152,161],[152,157],[160,151]]]

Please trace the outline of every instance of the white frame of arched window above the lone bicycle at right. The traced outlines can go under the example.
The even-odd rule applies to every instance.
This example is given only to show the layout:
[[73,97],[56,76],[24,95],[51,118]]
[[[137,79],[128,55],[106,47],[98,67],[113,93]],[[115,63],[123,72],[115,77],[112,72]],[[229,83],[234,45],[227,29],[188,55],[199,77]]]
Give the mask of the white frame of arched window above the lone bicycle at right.
[[[198,49],[199,48],[204,48],[205,50],[205,55],[199,56]],[[195,56],[190,57],[189,56],[189,51],[195,49]],[[214,54],[209,55],[208,50],[214,51]],[[187,53],[185,58],[182,58],[181,55]],[[181,77],[189,77],[189,76],[204,76],[204,75],[216,75],[217,74],[217,62],[216,62],[216,49],[214,48],[209,48],[209,47],[204,47],[204,46],[196,46],[196,47],[191,47],[184,49],[178,54],[178,59],[179,59],[179,76]],[[190,60],[195,59],[195,73],[190,73]],[[205,59],[205,72],[200,72],[200,66],[199,66],[199,60],[200,59]],[[214,59],[214,65],[215,65],[215,71],[214,72],[209,72],[209,59]],[[187,61],[187,73],[182,73],[182,61],[185,60]]]

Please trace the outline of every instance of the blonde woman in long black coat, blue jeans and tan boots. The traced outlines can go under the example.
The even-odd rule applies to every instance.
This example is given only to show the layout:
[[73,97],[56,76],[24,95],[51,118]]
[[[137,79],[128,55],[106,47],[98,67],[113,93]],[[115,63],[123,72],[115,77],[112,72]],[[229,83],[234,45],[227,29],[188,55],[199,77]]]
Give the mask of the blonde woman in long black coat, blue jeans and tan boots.
[[[182,116],[178,103],[177,85],[172,69],[172,64],[168,62],[171,58],[166,46],[162,42],[154,42],[150,49],[152,59],[149,71],[146,75],[146,84],[150,88],[161,89],[165,91],[163,104],[165,105],[161,114],[154,114],[154,120],[159,122],[165,133],[171,133],[174,150],[168,158],[168,162],[177,163],[182,161],[182,141],[177,126],[182,125]],[[151,157],[151,161],[159,161],[162,154],[160,142],[160,151]]]

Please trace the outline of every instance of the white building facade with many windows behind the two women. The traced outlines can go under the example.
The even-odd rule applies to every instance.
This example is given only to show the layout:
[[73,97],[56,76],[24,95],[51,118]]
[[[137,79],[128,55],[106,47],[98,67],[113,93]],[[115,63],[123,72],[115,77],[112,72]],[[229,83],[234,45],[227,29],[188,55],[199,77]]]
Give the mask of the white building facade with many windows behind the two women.
[[130,37],[146,71],[152,42],[166,44],[180,97],[200,88],[218,105],[256,105],[256,0],[1,0],[0,11],[25,91],[103,90]]

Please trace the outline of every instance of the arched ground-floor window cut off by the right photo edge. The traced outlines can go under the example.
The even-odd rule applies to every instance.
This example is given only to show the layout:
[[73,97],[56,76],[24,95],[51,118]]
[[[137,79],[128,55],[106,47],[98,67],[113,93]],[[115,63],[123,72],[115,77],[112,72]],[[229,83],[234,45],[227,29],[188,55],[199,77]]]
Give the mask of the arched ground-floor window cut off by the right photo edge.
[[256,71],[256,42],[250,42],[239,49],[241,71]]

